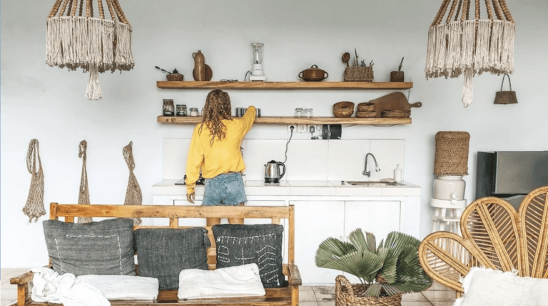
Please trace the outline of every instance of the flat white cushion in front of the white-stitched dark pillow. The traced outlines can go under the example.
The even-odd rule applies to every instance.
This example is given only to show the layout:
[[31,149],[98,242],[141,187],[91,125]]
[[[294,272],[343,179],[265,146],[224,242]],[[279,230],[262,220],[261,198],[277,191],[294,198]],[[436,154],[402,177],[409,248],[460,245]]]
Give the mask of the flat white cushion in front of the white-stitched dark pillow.
[[181,300],[263,295],[265,288],[255,263],[217,270],[188,269],[179,273],[177,297]]

